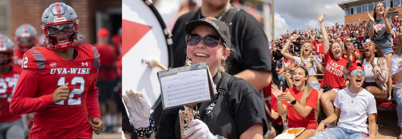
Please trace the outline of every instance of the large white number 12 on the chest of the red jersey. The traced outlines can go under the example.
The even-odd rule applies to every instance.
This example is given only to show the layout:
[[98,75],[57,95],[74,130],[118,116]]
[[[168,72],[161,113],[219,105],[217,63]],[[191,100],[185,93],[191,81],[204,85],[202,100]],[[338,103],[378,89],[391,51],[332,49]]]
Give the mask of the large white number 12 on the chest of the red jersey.
[[[84,92],[84,87],[85,87],[85,80],[84,77],[78,77],[75,76],[73,79],[71,79],[71,84],[70,85],[77,85],[77,83],[80,83],[80,88],[74,88],[72,91],[70,91],[70,96],[68,97],[67,105],[81,105],[81,97],[78,97],[77,99],[73,99],[74,95],[81,95]],[[64,84],[66,84],[66,77],[60,77],[59,81],[57,81],[57,86],[61,87]],[[59,103],[55,103],[56,105],[64,105],[64,101],[60,101]]]

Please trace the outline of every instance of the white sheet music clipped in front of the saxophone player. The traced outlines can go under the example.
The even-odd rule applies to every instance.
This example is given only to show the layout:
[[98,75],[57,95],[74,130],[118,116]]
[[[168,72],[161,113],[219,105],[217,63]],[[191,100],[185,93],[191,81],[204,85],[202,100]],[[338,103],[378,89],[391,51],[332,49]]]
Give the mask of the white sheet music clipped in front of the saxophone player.
[[205,68],[162,77],[160,83],[166,108],[210,99]]

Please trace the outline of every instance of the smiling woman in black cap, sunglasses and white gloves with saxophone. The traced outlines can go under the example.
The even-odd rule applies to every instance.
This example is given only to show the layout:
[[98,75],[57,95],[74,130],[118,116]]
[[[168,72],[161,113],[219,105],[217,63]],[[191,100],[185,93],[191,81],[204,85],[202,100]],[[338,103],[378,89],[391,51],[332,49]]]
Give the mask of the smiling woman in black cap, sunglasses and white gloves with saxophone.
[[[228,26],[214,17],[206,17],[187,23],[184,30],[188,34],[185,38],[187,56],[193,63],[208,64],[218,92],[211,101],[197,104],[195,109],[201,118],[189,123],[189,129],[184,135],[192,135],[190,139],[262,139],[267,133],[267,119],[261,93],[244,79],[225,73],[224,63],[230,54],[228,46],[231,44]],[[227,85],[227,92],[219,89],[222,85]],[[127,90],[126,94],[127,97],[123,99],[133,127],[146,128],[152,125],[148,123],[149,106],[141,103],[144,101],[134,101],[144,100],[141,94],[133,89]],[[137,106],[141,106],[139,111],[132,109]],[[178,117],[180,109],[184,110],[184,107],[162,112],[155,136],[157,139],[181,138]],[[138,117],[144,119],[138,120]]]

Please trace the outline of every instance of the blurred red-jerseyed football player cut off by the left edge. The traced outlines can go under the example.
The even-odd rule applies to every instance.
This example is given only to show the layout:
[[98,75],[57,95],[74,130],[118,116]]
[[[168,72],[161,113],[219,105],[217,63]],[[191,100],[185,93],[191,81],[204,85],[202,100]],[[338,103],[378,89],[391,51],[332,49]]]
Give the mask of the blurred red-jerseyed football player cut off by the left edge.
[[0,139],[24,139],[21,115],[12,115],[8,108],[22,69],[12,64],[14,44],[10,38],[0,34],[0,48]]

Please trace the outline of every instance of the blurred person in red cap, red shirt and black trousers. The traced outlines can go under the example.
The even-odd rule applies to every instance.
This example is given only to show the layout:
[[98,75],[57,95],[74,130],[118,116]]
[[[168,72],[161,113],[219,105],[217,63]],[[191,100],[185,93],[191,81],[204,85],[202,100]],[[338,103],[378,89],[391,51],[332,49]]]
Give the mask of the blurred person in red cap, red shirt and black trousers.
[[[100,59],[103,59],[103,61],[102,66],[99,67],[98,82],[95,86],[99,89],[99,108],[105,120],[105,132],[110,132],[113,130],[117,120],[116,92],[113,91],[117,83],[116,67],[114,65],[117,57],[114,47],[108,43],[109,31],[106,28],[100,28],[96,36],[98,42],[94,46],[98,48]],[[106,104],[108,107],[106,107]]]

